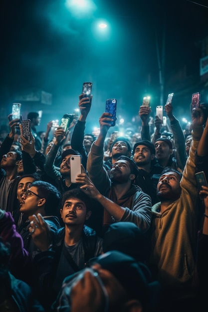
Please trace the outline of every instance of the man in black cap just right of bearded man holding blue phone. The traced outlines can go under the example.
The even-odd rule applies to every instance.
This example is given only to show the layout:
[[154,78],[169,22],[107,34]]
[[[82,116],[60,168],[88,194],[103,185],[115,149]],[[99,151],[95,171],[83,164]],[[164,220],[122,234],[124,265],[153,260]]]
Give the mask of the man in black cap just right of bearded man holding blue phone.
[[155,157],[154,144],[147,140],[135,143],[133,159],[139,169],[135,184],[140,186],[143,192],[151,197],[152,204],[154,205],[159,201],[157,196],[157,184],[161,172],[164,169]]

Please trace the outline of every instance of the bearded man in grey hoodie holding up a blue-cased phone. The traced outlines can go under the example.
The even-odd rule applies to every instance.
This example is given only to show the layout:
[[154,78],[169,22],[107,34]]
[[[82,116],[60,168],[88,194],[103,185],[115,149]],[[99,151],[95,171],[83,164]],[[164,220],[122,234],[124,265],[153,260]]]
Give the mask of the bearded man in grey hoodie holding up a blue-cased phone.
[[129,221],[145,232],[151,221],[151,199],[133,184],[138,175],[135,162],[127,156],[120,156],[109,174],[103,167],[103,147],[111,127],[111,116],[103,113],[100,117],[100,134],[88,154],[88,175],[98,191],[93,198],[104,207],[104,230],[113,222]]

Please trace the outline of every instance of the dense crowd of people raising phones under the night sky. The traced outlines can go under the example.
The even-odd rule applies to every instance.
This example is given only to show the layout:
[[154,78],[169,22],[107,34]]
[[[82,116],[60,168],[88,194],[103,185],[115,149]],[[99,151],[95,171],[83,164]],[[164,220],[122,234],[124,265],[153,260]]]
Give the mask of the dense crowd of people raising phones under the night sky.
[[[141,132],[120,135],[112,115],[85,133],[92,96],[79,96],[68,130],[32,140],[8,116],[0,138],[0,311],[207,311],[208,119],[191,112],[185,132],[141,106]],[[191,109],[190,109],[191,111]],[[136,140],[135,140],[136,138]],[[70,158],[81,157],[71,181]]]

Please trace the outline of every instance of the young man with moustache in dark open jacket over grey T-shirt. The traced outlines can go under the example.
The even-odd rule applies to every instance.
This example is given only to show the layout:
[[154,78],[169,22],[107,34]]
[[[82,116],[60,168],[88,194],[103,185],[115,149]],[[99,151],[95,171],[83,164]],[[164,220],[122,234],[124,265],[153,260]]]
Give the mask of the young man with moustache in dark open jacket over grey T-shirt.
[[32,238],[41,251],[34,257],[34,264],[39,275],[41,302],[46,308],[56,299],[65,277],[83,269],[90,258],[102,253],[103,240],[85,225],[91,215],[91,200],[81,189],[63,194],[60,214],[64,227],[56,231],[51,245],[44,219],[30,217],[31,226],[36,224]]

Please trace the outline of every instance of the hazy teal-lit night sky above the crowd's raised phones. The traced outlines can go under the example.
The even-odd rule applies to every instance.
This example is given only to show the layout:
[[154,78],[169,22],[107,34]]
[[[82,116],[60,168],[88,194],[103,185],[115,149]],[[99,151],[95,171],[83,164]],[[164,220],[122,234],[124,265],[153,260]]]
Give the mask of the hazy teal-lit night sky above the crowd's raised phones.
[[[107,98],[117,99],[117,115],[131,120],[145,95],[154,110],[160,105],[156,42],[162,61],[165,38],[164,101],[170,77],[186,65],[187,75],[200,81],[201,40],[208,35],[206,0],[94,0],[89,12],[76,14],[65,0],[0,1],[0,105],[10,113],[16,94],[43,90],[52,105],[22,103],[43,111],[43,123],[60,119],[77,107],[82,83],[92,81],[93,102],[89,125],[99,125]],[[104,18],[108,32],[98,32]],[[165,31],[165,36],[163,35]],[[191,95],[198,92],[193,86]],[[177,111],[174,111],[176,117]],[[26,116],[23,116],[26,118]],[[39,128],[41,128],[39,126]]]

